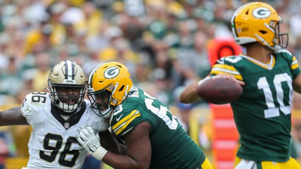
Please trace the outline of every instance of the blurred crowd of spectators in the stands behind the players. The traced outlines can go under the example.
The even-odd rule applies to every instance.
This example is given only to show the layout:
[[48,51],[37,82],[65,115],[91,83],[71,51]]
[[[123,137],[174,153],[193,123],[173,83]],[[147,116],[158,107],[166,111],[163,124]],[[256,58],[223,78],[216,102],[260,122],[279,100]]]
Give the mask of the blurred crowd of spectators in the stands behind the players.
[[[86,75],[122,62],[135,86],[177,105],[174,91],[209,73],[208,43],[232,37],[230,19],[248,1],[0,0],[0,106],[47,92],[50,68],[67,59]],[[260,1],[278,11],[301,61],[301,0]]]

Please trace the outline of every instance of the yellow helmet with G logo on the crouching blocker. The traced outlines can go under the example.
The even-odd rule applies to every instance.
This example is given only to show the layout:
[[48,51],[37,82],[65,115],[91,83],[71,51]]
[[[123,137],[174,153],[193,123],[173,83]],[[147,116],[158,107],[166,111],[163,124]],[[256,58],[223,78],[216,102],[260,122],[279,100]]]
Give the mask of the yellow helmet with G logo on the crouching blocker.
[[91,108],[97,115],[109,118],[132,87],[133,81],[125,65],[115,61],[99,64],[88,77],[87,96]]

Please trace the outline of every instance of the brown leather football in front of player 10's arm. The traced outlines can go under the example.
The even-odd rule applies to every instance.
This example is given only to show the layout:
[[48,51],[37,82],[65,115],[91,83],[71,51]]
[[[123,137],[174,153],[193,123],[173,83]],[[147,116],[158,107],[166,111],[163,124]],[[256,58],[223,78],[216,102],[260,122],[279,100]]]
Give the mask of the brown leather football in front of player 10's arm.
[[223,105],[233,102],[243,92],[242,86],[227,78],[209,78],[198,86],[198,94],[209,103]]

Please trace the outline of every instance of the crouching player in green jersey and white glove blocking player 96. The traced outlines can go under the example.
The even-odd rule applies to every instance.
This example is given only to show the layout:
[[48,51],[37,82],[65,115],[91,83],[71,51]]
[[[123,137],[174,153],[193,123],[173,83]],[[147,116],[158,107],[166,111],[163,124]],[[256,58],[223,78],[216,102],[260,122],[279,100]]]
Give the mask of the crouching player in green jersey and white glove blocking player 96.
[[97,115],[110,118],[113,133],[127,149],[126,155],[108,152],[98,134],[83,126],[77,139],[95,158],[117,169],[212,169],[167,105],[134,87],[123,64],[96,66],[88,78],[87,96]]

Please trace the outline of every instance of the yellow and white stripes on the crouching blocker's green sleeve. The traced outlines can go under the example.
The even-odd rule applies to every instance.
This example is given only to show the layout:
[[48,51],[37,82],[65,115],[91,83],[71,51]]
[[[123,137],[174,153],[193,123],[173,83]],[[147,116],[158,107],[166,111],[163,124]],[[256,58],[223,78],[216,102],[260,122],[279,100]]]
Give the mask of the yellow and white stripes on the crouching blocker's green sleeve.
[[116,135],[120,134],[136,117],[140,116],[138,110],[133,110],[129,115],[125,116],[118,123],[112,126],[112,129]]

